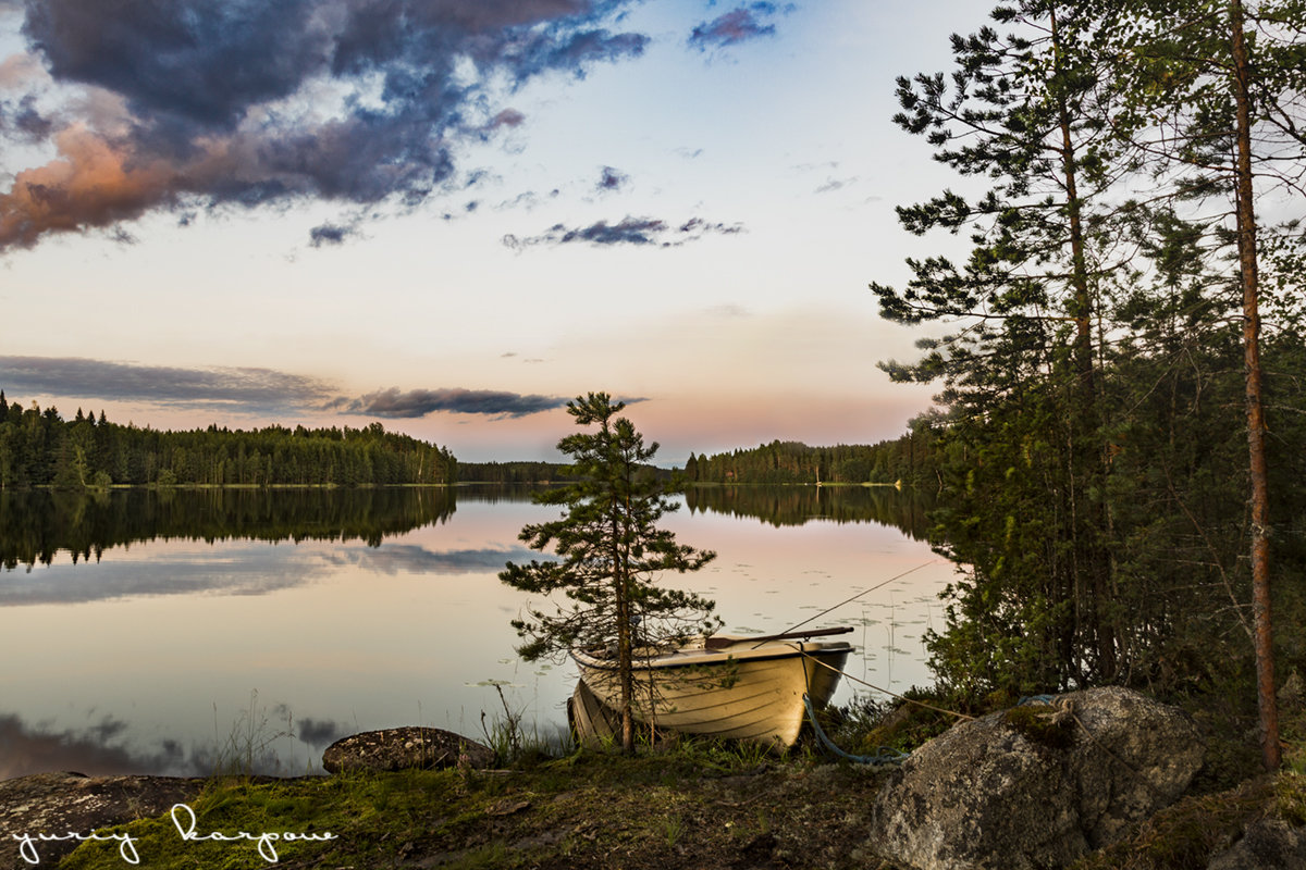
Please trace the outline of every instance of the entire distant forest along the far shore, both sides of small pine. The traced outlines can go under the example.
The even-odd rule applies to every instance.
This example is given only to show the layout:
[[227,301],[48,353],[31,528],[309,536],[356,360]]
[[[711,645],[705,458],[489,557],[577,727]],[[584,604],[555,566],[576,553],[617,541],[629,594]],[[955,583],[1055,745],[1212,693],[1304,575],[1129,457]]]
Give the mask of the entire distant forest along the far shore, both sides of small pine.
[[[772,441],[754,449],[696,457],[688,484],[930,484],[934,434],[921,428],[875,445],[810,447]],[[652,468],[671,479],[674,472]],[[460,463],[447,447],[362,429],[206,429],[161,432],[120,425],[101,411],[65,420],[35,402],[24,408],[0,390],[0,489],[54,487],[363,487],[454,483],[538,484],[575,480],[554,462]]]

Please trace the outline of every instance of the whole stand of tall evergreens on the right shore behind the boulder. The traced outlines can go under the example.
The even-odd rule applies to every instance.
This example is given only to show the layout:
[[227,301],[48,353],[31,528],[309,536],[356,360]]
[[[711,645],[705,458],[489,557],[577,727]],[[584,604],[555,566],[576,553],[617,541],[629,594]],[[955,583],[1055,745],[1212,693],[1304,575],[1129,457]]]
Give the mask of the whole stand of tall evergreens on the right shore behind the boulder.
[[[982,22],[976,22],[981,25]],[[897,80],[955,187],[872,283],[934,383],[959,703],[1123,683],[1259,712],[1306,670],[1306,8],[1019,0]],[[926,244],[926,243],[922,243]]]

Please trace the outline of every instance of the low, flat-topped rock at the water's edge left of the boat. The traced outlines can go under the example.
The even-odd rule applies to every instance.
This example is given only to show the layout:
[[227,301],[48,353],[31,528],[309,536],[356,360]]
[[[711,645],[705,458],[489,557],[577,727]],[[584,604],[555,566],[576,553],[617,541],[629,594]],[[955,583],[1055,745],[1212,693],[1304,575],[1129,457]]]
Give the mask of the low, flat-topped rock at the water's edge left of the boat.
[[410,767],[483,770],[494,763],[494,750],[440,728],[387,728],[337,740],[323,753],[329,773],[341,771],[401,771]]

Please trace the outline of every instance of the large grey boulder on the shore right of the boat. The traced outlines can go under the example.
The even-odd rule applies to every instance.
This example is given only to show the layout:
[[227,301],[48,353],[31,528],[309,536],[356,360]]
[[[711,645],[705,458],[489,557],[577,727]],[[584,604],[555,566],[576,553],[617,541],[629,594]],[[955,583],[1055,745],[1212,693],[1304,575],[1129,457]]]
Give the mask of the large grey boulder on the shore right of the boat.
[[1064,866],[1173,803],[1202,766],[1182,711],[1119,687],[953,727],[875,800],[868,848],[921,870]]

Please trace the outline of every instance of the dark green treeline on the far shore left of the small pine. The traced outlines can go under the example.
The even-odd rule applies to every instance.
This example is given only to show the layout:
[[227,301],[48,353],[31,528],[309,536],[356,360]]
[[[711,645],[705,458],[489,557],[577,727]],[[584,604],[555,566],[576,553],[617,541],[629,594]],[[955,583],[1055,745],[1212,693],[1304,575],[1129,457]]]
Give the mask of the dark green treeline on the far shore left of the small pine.
[[24,408],[0,391],[0,489],[110,485],[359,487],[452,484],[457,460],[445,447],[385,432],[266,427],[159,432],[119,425],[81,408],[64,420],[54,407]]

